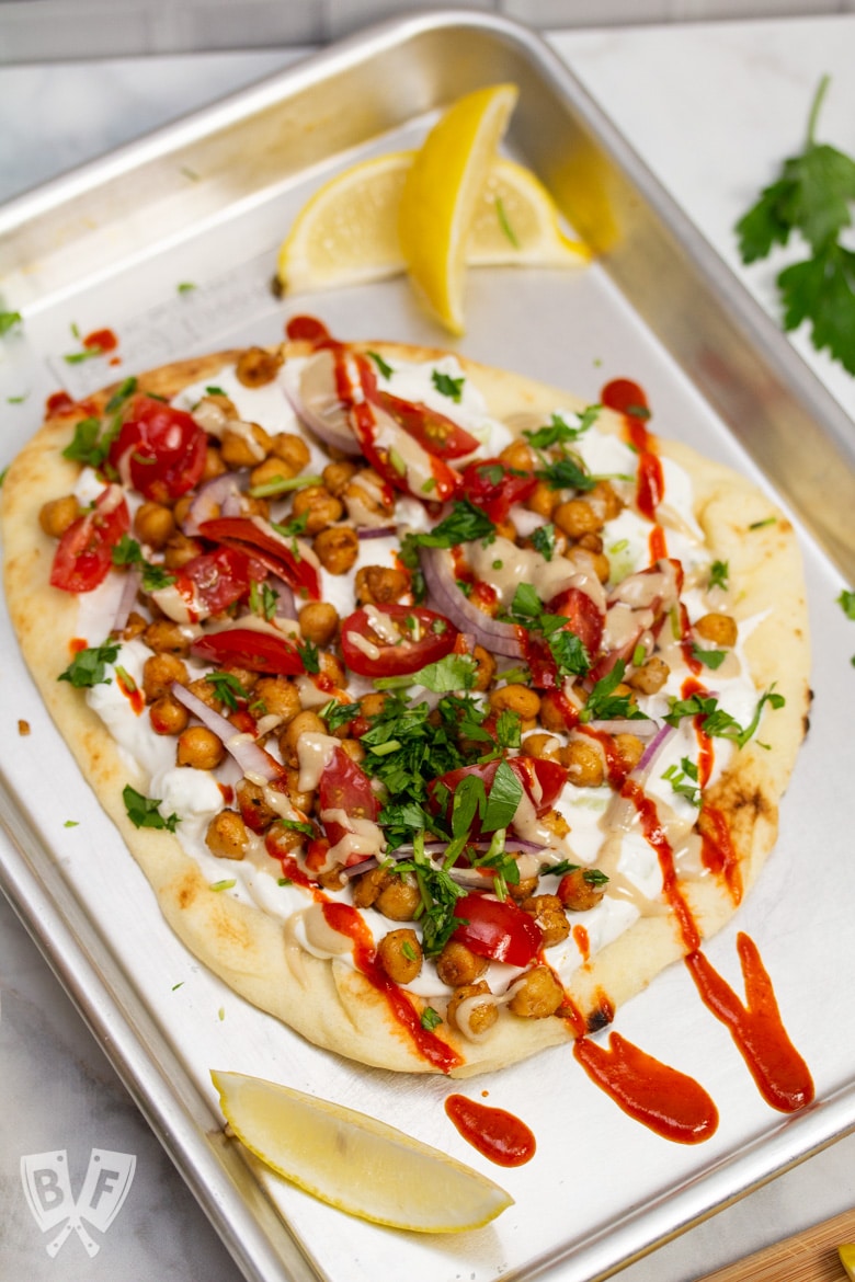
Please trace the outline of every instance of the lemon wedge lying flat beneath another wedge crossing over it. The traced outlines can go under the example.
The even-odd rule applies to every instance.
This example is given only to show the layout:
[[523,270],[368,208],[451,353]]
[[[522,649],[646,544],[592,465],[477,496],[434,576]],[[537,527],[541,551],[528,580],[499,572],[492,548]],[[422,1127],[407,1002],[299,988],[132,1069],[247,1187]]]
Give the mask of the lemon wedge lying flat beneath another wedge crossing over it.
[[[283,290],[304,294],[405,271],[397,227],[414,156],[392,151],[361,160],[315,192],[279,249]],[[494,160],[467,238],[469,267],[579,267],[591,256],[564,233],[555,201],[531,169]]]

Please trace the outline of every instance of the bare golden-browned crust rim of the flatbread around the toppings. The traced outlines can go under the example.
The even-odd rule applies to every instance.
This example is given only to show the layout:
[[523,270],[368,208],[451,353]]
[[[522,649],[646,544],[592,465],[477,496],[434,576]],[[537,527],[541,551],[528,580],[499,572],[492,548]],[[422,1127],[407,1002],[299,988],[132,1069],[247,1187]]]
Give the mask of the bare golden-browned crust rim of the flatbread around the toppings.
[[[411,365],[444,356],[435,350],[397,344],[363,344],[359,350],[374,353],[388,363]],[[282,355],[287,365],[309,351],[306,344],[290,344]],[[190,385],[217,383],[237,356],[238,353],[228,351],[176,363],[141,376],[138,386],[173,399]],[[491,419],[531,424],[549,420],[558,408],[568,414],[585,409],[583,401],[558,388],[463,358],[458,360],[467,381],[485,397]],[[101,410],[114,390],[94,397],[86,412]],[[546,1046],[570,1041],[579,1033],[579,1020],[587,1029],[601,1027],[622,1003],[686,953],[674,914],[660,900],[656,912],[640,917],[563,981],[567,1000],[556,1014],[523,1019],[501,1005],[495,1027],[483,1040],[463,1036],[444,1019],[429,1035],[454,1053],[444,1065],[426,1055],[413,1032],[392,1013],[387,996],[350,962],[306,951],[292,920],[212,890],[209,869],[200,867],[177,836],[136,827],[126,812],[122,791],[131,783],[147,794],[145,772],[133,768],[87,705],[83,692],[58,681],[69,663],[69,644],[78,635],[78,604],[73,594],[49,583],[56,542],[42,533],[38,513],[47,499],[73,491],[77,483],[79,467],[64,459],[62,451],[79,417],[79,413],[49,417],[5,478],[1,529],[12,620],[51,717],[145,872],[163,915],[186,946],[229,987],[315,1045],[350,1059],[401,1072],[450,1070],[452,1076],[467,1076],[491,1072]],[[620,418],[610,418],[608,413],[597,427],[615,435],[623,429]],[[778,803],[806,729],[809,709],[805,591],[793,529],[760,490],[687,446],[656,440],[656,449],[691,478],[693,518],[702,529],[710,558],[728,564],[727,613],[740,624],[741,659],[758,697],[774,687],[784,700],[782,706],[767,709],[761,735],[751,737],[733,755],[705,794],[705,805],[713,806],[726,822],[736,863],[729,882],[709,870],[681,882],[699,936],[706,938],[738,909],[776,841]],[[88,640],[95,644],[95,638]],[[714,674],[705,673],[705,679],[714,686]],[[222,863],[223,876],[231,876],[236,865]],[[586,917],[572,915],[574,920]],[[444,1010],[441,995],[417,996],[411,1004],[417,1014],[426,1005]],[[567,1018],[570,1009],[577,1018]]]

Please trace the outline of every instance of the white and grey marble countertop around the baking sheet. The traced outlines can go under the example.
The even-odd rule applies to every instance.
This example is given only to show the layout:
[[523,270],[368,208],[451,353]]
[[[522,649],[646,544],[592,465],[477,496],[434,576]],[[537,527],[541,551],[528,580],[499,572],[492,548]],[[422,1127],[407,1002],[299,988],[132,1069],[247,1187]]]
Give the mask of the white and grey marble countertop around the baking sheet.
[[[732,227],[779,162],[801,146],[826,73],[832,86],[820,137],[855,151],[855,15],[564,31],[549,38],[724,262],[777,315],[773,267],[743,269]],[[0,132],[0,201],[300,54],[0,68],[0,95],[14,104]],[[793,345],[855,417],[854,381],[815,354],[804,335]],[[1,896],[0,997],[0,1276],[237,1282],[236,1265]],[[78,1190],[94,1146],[136,1159],[133,1197],[99,1236],[96,1254],[73,1254],[71,1244],[50,1256],[47,1237],[28,1214],[19,1167],[29,1156],[64,1151]],[[627,1267],[620,1278],[692,1282],[852,1205],[855,1137],[849,1137]]]

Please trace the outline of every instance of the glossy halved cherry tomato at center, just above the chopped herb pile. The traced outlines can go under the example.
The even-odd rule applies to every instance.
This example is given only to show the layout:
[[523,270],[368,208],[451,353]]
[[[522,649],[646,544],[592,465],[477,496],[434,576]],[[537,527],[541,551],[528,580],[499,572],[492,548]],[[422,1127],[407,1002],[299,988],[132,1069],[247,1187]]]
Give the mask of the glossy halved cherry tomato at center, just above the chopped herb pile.
[[[397,640],[381,636],[372,612],[383,615]],[[360,640],[364,642],[360,645]],[[360,677],[404,677],[451,654],[458,629],[436,610],[423,605],[377,605],[354,610],[341,624],[341,653]]]

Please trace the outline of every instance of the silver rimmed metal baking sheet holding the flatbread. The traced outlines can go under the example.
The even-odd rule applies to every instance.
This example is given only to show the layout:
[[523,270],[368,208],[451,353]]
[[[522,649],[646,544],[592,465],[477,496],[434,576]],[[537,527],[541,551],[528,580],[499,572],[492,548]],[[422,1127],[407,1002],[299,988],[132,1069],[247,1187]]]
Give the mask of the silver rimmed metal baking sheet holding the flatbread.
[[[705,951],[738,991],[736,931],[756,940],[817,1103],[773,1113],[674,967],[615,1027],[704,1083],[720,1113],[715,1136],[692,1147],[658,1138],[559,1049],[465,1083],[537,1137],[528,1165],[497,1176],[445,1117],[459,1083],[361,1069],[305,1045],[173,938],[41,708],[4,613],[0,701],[6,727],[21,718],[31,733],[3,762],[3,887],[254,1282],[400,1273],[592,1282],[855,1128],[851,1055],[833,1032],[855,1015],[841,695],[855,635],[836,604],[843,576],[855,577],[855,426],[537,37],[470,12],[386,23],[0,210],[0,291],[24,315],[3,345],[0,468],[58,382],[81,395],[219,344],[277,341],[297,312],[346,338],[454,346],[400,281],[282,301],[269,279],[278,242],[319,182],[417,144],[442,105],[502,79],[520,87],[509,153],[540,173],[600,258],[578,273],[472,272],[460,350],[590,400],[611,377],[638,381],[656,431],[773,490],[800,532],[814,637],[810,735],[778,847],[736,923]],[[181,282],[195,288],[179,292]],[[64,362],[74,333],[105,326],[119,336],[118,370]],[[212,1067],[382,1117],[497,1178],[515,1206],[445,1240],[342,1220],[223,1138]]]

